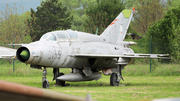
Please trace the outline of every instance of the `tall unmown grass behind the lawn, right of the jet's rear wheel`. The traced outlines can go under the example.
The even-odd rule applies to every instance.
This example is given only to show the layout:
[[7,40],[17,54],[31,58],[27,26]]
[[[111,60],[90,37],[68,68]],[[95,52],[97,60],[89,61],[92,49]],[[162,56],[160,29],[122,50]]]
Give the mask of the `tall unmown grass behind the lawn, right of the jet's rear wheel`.
[[131,64],[122,71],[125,76],[180,76],[179,64],[156,63],[151,67],[149,64]]

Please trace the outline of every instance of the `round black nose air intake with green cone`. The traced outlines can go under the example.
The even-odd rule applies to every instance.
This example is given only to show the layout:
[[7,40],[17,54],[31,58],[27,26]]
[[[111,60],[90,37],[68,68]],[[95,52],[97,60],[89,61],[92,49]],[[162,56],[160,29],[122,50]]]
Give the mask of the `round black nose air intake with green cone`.
[[26,62],[30,57],[30,52],[26,47],[20,47],[16,52],[16,57],[21,62]]

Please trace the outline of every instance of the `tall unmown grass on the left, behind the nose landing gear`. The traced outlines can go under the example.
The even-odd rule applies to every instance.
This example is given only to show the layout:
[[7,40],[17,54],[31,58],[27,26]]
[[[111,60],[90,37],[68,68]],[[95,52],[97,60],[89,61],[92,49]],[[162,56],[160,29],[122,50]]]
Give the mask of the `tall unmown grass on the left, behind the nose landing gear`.
[[[47,68],[48,75],[53,76],[53,69]],[[71,69],[61,69],[64,73],[69,73]],[[15,76],[15,77],[22,77],[22,76],[42,76],[42,70],[30,68],[30,65],[26,65],[25,63],[21,63],[19,61],[15,62],[14,71],[13,71],[13,64],[8,63],[7,61],[0,60],[0,76]]]

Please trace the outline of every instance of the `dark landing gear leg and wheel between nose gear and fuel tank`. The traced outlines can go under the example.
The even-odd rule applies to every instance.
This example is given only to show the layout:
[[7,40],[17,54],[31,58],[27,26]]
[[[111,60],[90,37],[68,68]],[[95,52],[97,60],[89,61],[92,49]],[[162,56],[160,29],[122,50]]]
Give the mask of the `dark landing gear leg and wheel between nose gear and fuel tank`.
[[56,84],[61,85],[61,86],[65,86],[65,81],[61,81],[61,80],[57,79],[59,76],[64,75],[64,73],[59,73],[59,68],[54,68],[53,73],[54,73],[53,80],[56,80]]

